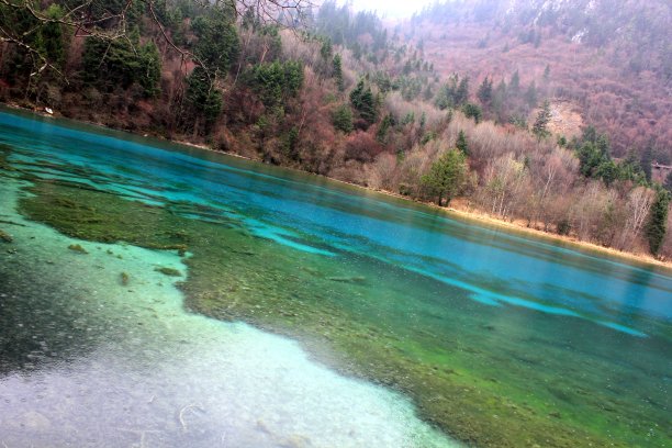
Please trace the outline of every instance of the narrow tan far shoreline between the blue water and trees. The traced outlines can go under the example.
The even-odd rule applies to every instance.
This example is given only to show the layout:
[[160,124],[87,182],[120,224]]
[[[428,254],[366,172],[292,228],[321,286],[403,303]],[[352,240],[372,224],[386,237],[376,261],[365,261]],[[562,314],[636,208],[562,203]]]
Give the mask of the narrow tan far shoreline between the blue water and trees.
[[[27,111],[31,112],[33,114],[36,115],[41,115],[43,117],[49,117],[49,119],[58,119],[58,120],[68,120],[75,123],[81,123],[81,124],[87,124],[87,125],[91,125],[91,126],[96,126],[96,127],[102,127],[104,130],[112,130],[112,131],[116,131],[116,132],[124,132],[131,135],[135,135],[138,137],[145,137],[145,138],[155,138],[157,141],[160,142],[166,142],[166,143],[170,143],[170,144],[177,144],[177,145],[182,145],[182,146],[187,146],[187,147],[191,147],[191,148],[197,148],[197,149],[202,149],[202,150],[208,150],[208,152],[212,152],[212,153],[216,153],[216,154],[223,154],[229,157],[236,157],[239,159],[244,159],[244,160],[249,160],[249,161],[256,161],[256,163],[260,163],[264,164],[264,161],[261,161],[258,158],[253,158],[253,157],[247,157],[247,156],[243,156],[240,154],[236,154],[236,153],[232,153],[232,152],[226,152],[226,150],[220,150],[220,149],[213,149],[212,147],[205,145],[205,144],[199,144],[199,143],[193,143],[193,142],[189,142],[189,141],[183,141],[183,139],[169,139],[166,138],[161,135],[158,134],[154,134],[154,133],[137,133],[137,132],[132,132],[132,131],[127,131],[127,130],[120,130],[120,128],[115,128],[115,127],[111,127],[108,126],[105,124],[102,123],[96,123],[96,122],[90,122],[90,121],[86,121],[86,120],[74,120],[74,119],[68,119],[65,117],[60,114],[58,114],[58,112],[56,112],[56,114],[47,114],[43,111],[40,110],[35,110],[35,109],[27,109],[24,107],[21,107],[19,104],[15,103],[7,103],[7,102],[2,102],[1,104],[3,104],[4,107],[7,107],[8,109],[13,109],[13,110],[19,110],[19,111]],[[267,164],[265,164],[267,165]],[[387,197],[391,197],[391,198],[395,198],[395,199],[400,199],[400,200],[404,200],[404,201],[408,201],[411,203],[414,204],[422,204],[425,206],[429,206],[433,210],[439,210],[443,213],[445,213],[446,215],[448,215],[451,219],[460,219],[460,220],[464,220],[464,221],[471,221],[471,222],[477,222],[480,224],[484,224],[484,225],[490,225],[490,226],[495,226],[505,231],[509,231],[509,232],[514,232],[514,233],[520,233],[527,236],[534,236],[534,237],[538,237],[538,238],[542,238],[542,239],[548,239],[549,242],[552,243],[561,243],[561,244],[565,244],[571,246],[571,248],[573,249],[579,249],[579,250],[583,250],[583,251],[590,251],[590,253],[597,253],[600,255],[607,255],[614,258],[620,258],[621,260],[626,260],[626,261],[630,261],[630,262],[638,262],[638,264],[643,264],[643,265],[649,265],[649,266],[654,266],[658,268],[663,268],[667,270],[672,270],[672,260],[661,260],[658,258],[652,257],[651,255],[648,254],[636,254],[632,251],[625,251],[625,250],[619,250],[613,247],[605,247],[605,246],[601,246],[598,244],[595,243],[591,243],[591,242],[585,242],[582,239],[579,239],[574,236],[565,236],[565,235],[558,235],[555,233],[550,233],[550,232],[545,232],[541,229],[537,229],[534,227],[528,227],[527,225],[522,225],[514,222],[508,222],[505,220],[501,220],[499,217],[494,217],[489,215],[485,212],[480,212],[480,211],[475,211],[475,210],[464,210],[462,208],[456,208],[456,206],[439,206],[433,202],[427,202],[427,201],[421,201],[417,199],[413,199],[410,197],[405,197],[402,195],[400,193],[393,192],[393,191],[389,191],[389,190],[384,190],[384,189],[377,189],[377,188],[372,188],[372,187],[367,187],[367,186],[362,186],[359,183],[354,183],[354,182],[349,182],[346,180],[341,180],[341,179],[336,179],[333,177],[328,177],[328,176],[324,176],[324,175],[318,175],[315,172],[310,172],[300,168],[295,168],[295,167],[288,167],[288,166],[281,166],[281,165],[272,165],[272,166],[277,166],[277,167],[281,167],[283,169],[289,169],[292,171],[296,171],[296,172],[301,172],[304,175],[309,175],[309,176],[315,176],[318,178],[323,178],[323,179],[327,179],[329,181],[333,182],[338,182],[348,187],[354,187],[354,188],[358,188],[358,189],[362,189],[369,192],[374,192],[374,193],[379,193],[379,194],[383,194]],[[459,202],[459,201],[458,201]]]

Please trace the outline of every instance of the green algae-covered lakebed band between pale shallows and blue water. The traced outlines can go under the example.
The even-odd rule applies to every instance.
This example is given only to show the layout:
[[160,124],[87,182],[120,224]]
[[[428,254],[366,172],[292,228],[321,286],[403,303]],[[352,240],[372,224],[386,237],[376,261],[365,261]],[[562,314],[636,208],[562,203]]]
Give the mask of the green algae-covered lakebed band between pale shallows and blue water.
[[[38,182],[21,210],[82,239],[154,249],[189,244],[189,278],[180,287],[186,306],[296,338],[340,372],[408,394],[425,419],[470,445],[672,441],[665,399],[653,399],[660,383],[648,381],[664,368],[642,368],[641,376],[623,368],[657,356],[665,346],[656,340],[654,349],[634,349],[638,359],[629,359],[621,349],[632,344],[627,336],[592,326],[595,340],[585,345],[581,334],[590,323],[539,314],[522,332],[517,322],[497,322],[496,309],[460,296],[445,298],[456,310],[449,318],[434,317],[434,310],[411,307],[405,298],[446,288],[426,278],[394,275],[395,268],[359,256],[348,262],[298,256],[236,228],[74,187]],[[614,337],[620,344],[604,343]]]

